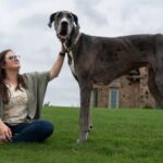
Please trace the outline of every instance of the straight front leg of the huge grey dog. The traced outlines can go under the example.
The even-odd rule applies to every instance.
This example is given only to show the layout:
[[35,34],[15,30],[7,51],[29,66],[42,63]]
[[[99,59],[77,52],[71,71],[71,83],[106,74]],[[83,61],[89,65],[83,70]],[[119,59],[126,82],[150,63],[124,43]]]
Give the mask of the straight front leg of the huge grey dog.
[[91,88],[88,86],[80,87],[80,114],[79,114],[79,139],[77,142],[87,140],[88,131],[90,130],[90,95]]

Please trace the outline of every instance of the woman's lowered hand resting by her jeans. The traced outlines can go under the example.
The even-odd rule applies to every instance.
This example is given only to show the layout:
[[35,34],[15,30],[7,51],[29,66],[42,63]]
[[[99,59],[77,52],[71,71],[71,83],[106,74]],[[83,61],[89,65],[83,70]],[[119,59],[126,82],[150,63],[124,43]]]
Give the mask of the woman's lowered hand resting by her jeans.
[[11,129],[0,120],[0,141],[11,141],[12,133]]

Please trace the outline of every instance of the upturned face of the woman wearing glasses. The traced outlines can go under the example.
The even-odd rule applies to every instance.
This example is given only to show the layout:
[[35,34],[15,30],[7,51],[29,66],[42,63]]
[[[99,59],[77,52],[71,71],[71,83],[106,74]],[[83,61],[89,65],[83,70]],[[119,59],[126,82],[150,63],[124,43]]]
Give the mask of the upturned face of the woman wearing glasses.
[[20,57],[15,55],[13,51],[9,51],[5,54],[5,64],[4,68],[7,70],[20,70],[21,63],[20,63]]

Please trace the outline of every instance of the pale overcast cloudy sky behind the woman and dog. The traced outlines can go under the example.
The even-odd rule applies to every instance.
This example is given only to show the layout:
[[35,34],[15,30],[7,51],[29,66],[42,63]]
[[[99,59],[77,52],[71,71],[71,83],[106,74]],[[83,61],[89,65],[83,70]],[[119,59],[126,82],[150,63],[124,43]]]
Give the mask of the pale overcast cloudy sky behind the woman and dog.
[[[162,0],[0,0],[0,51],[21,55],[21,73],[49,71],[61,45],[50,14],[67,10],[78,16],[80,32],[104,37],[163,33]],[[45,103],[79,106],[79,88],[65,58],[49,83]]]

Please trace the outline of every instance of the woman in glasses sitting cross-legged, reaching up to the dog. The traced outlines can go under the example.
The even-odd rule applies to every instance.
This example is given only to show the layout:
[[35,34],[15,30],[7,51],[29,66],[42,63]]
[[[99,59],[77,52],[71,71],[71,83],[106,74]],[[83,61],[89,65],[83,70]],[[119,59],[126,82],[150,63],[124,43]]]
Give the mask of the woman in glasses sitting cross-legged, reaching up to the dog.
[[0,142],[42,142],[53,133],[52,123],[40,117],[48,82],[61,71],[65,49],[52,68],[21,75],[20,60],[12,50],[0,53]]

